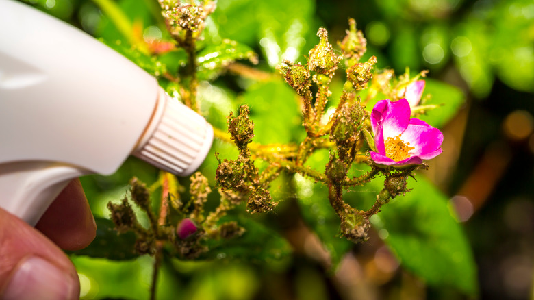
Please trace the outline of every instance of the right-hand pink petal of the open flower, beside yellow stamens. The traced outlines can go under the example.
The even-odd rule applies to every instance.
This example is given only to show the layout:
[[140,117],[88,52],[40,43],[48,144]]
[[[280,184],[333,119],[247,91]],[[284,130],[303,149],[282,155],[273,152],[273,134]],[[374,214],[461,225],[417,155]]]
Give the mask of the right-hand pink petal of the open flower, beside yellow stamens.
[[442,132],[418,118],[410,120],[410,124],[401,135],[401,139],[405,143],[409,142],[409,147],[415,147],[415,149],[409,151],[411,156],[418,156],[423,160],[428,160],[442,153]]

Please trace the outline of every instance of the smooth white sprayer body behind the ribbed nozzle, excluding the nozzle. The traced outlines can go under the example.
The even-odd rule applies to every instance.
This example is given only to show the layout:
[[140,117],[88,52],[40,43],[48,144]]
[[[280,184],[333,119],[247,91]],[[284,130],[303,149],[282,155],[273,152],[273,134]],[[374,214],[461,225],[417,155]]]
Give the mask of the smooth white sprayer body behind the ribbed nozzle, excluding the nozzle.
[[154,77],[92,36],[0,0],[0,164],[113,173],[136,147],[157,93]]

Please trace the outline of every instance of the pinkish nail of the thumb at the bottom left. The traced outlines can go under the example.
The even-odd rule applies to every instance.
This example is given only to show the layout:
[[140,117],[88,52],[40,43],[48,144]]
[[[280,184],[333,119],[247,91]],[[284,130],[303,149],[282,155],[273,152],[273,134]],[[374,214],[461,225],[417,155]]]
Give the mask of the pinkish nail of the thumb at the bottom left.
[[[42,258],[31,257],[16,269],[4,300],[71,300],[75,292],[74,279]],[[1,298],[1,297],[0,297]]]

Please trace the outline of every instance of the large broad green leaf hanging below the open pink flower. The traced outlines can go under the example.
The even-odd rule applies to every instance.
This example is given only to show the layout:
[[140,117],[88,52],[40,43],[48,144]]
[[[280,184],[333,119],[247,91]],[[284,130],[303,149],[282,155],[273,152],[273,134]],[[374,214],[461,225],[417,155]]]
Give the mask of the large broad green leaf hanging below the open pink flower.
[[[375,179],[368,188],[381,187],[381,179]],[[447,197],[423,177],[409,180],[408,188],[413,190],[384,205],[372,224],[401,264],[427,284],[476,295],[472,251]]]

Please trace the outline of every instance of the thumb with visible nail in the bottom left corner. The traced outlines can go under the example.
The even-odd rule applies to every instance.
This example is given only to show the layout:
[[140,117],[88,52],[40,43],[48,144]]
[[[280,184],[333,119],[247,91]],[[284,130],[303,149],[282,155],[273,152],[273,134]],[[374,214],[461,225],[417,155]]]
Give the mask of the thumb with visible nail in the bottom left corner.
[[63,251],[2,209],[0,299],[79,299],[78,275]]

